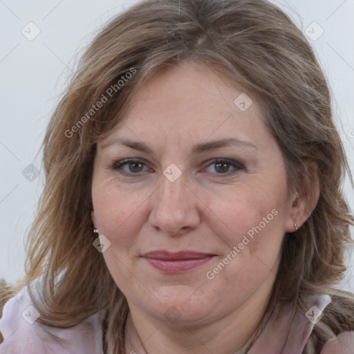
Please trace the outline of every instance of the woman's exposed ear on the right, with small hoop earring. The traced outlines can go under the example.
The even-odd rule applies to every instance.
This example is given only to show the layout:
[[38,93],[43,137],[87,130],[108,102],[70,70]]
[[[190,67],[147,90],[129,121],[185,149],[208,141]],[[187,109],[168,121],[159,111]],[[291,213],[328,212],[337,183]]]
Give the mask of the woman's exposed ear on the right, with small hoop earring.
[[306,168],[302,169],[299,178],[299,187],[290,197],[289,216],[286,221],[286,232],[295,232],[295,223],[300,228],[304,225],[315,209],[319,199],[319,174],[317,164],[306,160]]

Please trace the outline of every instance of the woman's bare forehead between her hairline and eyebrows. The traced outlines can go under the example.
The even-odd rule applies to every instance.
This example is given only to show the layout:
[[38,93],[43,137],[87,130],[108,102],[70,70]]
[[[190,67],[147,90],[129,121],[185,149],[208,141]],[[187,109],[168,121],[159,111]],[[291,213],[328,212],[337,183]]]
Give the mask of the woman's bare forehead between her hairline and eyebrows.
[[140,140],[255,139],[261,133],[264,110],[242,86],[221,73],[194,62],[158,71],[145,82],[121,122],[102,143],[115,137]]

